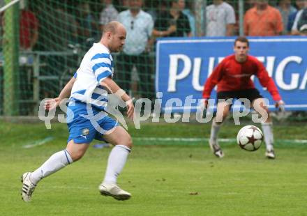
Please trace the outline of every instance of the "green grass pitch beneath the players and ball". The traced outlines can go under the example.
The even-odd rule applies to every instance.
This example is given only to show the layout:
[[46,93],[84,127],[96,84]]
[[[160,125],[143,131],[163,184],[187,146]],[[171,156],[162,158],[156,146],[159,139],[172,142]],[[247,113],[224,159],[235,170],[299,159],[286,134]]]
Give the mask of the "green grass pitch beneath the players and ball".
[[[257,125],[259,126],[259,125]],[[227,123],[220,138],[235,138],[241,126]],[[210,124],[153,124],[129,132],[137,137],[208,138]],[[276,160],[237,144],[221,143],[220,160],[205,141],[135,139],[119,185],[128,201],[100,196],[110,148],[89,148],[82,160],[40,182],[31,203],[20,196],[20,176],[66,146],[64,123],[0,122],[0,215],[307,215],[307,126],[275,125]],[[22,146],[53,137],[33,148]]]

